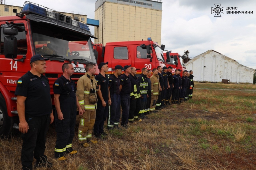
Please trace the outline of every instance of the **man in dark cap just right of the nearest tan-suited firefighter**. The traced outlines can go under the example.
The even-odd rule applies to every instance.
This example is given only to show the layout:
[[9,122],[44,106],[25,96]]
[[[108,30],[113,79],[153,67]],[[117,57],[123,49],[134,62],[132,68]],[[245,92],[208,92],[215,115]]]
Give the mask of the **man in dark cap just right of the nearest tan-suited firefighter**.
[[109,81],[108,76],[106,76],[106,73],[108,72],[108,62],[100,63],[98,65],[98,69],[100,70],[100,73],[95,77],[97,82],[96,91],[98,102],[93,133],[95,137],[101,138],[101,135],[105,135],[103,126],[108,116],[108,106],[111,105],[110,93],[108,89]]

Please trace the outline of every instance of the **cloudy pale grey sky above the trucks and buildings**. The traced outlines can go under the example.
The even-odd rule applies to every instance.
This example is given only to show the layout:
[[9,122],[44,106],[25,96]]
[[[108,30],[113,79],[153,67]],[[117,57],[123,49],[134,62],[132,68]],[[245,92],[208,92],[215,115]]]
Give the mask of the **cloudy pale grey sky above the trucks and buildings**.
[[[18,0],[6,4],[22,6]],[[25,2],[25,1],[24,1]],[[95,0],[33,0],[33,3],[56,11],[86,13],[94,19]],[[65,3],[66,2],[66,3]],[[255,0],[162,0],[162,36],[165,49],[183,55],[189,50],[193,58],[212,49],[240,64],[256,69],[256,1]],[[221,4],[224,14],[214,17],[211,7]],[[237,10],[227,10],[237,7]],[[253,14],[227,14],[227,11],[253,11]],[[90,26],[92,34],[94,27]]]

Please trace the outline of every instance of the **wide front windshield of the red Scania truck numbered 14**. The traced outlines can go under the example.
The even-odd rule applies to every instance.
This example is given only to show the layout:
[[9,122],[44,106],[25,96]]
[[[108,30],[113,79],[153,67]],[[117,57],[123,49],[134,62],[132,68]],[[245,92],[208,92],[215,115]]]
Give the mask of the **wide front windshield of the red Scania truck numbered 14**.
[[45,26],[45,23],[31,22],[31,27],[36,54],[96,63],[88,36],[61,27]]

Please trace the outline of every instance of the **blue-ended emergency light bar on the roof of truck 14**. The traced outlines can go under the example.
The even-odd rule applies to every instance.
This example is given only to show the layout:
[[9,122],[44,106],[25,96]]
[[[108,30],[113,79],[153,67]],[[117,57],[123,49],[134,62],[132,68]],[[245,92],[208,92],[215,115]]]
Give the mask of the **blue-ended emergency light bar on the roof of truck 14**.
[[71,19],[71,17],[57,13],[56,11],[51,10],[47,7],[29,2],[29,1],[26,1],[24,3],[23,8],[21,9],[20,13],[26,14],[26,15],[29,15],[29,14],[41,15],[43,17],[55,19],[55,20],[64,22],[66,24],[81,28],[82,30],[91,32],[89,26],[87,24],[85,24],[84,22],[79,22],[75,19]]

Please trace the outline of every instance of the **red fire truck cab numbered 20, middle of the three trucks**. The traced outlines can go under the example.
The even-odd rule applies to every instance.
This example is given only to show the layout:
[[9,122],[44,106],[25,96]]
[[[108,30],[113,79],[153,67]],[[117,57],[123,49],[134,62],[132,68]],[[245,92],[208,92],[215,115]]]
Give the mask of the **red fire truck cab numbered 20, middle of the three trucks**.
[[136,68],[137,74],[141,74],[141,69],[144,67],[152,71],[157,66],[166,66],[163,50],[164,45],[159,46],[150,39],[148,41],[108,42],[102,47],[102,55],[98,58],[103,57],[103,61],[108,62],[108,74],[115,72],[116,65],[123,67],[132,65]]

